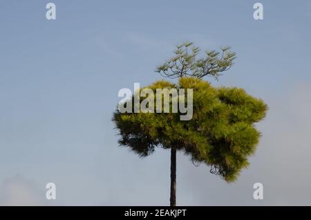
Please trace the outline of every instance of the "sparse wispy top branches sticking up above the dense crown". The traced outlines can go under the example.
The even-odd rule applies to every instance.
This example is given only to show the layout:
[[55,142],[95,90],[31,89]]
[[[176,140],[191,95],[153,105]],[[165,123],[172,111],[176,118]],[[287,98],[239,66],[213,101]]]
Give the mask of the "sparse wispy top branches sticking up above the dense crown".
[[189,42],[176,46],[174,56],[158,66],[156,72],[170,78],[187,76],[202,78],[211,75],[218,79],[220,72],[231,68],[236,59],[236,53],[230,52],[227,46],[221,48],[221,52],[206,51],[205,57],[198,58],[200,48],[192,45],[193,43]]

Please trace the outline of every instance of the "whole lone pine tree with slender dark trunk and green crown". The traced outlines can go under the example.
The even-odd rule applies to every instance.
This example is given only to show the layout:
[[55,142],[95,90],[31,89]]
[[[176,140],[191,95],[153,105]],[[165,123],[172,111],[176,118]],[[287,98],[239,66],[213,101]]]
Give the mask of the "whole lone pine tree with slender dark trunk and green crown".
[[[236,54],[229,47],[221,52],[207,51],[198,58],[200,49],[185,43],[177,46],[174,56],[157,68],[164,77],[178,78],[178,83],[160,80],[147,86],[156,89],[193,90],[193,116],[180,120],[182,113],[120,113],[113,121],[120,131],[120,145],[131,147],[140,156],[149,156],[156,147],[171,149],[171,199],[176,205],[176,152],[189,155],[195,165],[205,163],[212,174],[225,181],[236,181],[241,169],[249,165],[261,136],[254,123],[262,120],[267,105],[243,89],[212,86],[202,77],[218,79],[233,65]],[[140,91],[136,91],[140,102]],[[186,95],[186,94],[185,94]],[[156,96],[153,97],[156,100]],[[162,98],[162,97],[161,97]],[[186,100],[187,102],[187,100]],[[170,102],[171,104],[171,102]]]

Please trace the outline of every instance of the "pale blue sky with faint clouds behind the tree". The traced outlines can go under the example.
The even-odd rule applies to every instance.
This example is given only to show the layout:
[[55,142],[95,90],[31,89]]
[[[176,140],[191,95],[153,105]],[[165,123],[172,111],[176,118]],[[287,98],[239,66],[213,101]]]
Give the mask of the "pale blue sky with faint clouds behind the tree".
[[[156,66],[190,40],[232,46],[234,67],[206,80],[243,87],[270,111],[237,183],[178,155],[178,204],[310,205],[311,2],[259,1],[261,21],[255,2],[55,0],[48,21],[48,1],[1,1],[0,203],[15,203],[17,187],[45,205],[167,205],[169,152],[118,147],[111,116],[120,89],[159,80]],[[56,201],[41,198],[48,182]]]

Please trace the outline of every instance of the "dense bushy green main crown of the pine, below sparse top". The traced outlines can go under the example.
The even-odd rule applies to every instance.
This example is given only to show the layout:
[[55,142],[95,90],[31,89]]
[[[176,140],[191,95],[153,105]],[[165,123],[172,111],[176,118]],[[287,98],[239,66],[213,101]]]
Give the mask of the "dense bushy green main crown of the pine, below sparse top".
[[113,121],[120,131],[120,145],[140,156],[148,156],[156,147],[175,147],[192,161],[211,166],[211,173],[225,181],[235,181],[247,167],[247,157],[255,152],[260,133],[254,122],[265,117],[266,104],[243,89],[215,88],[196,77],[181,77],[178,84],[162,80],[147,88],[155,93],[164,88],[193,89],[193,118],[182,121],[180,113],[116,110]]

